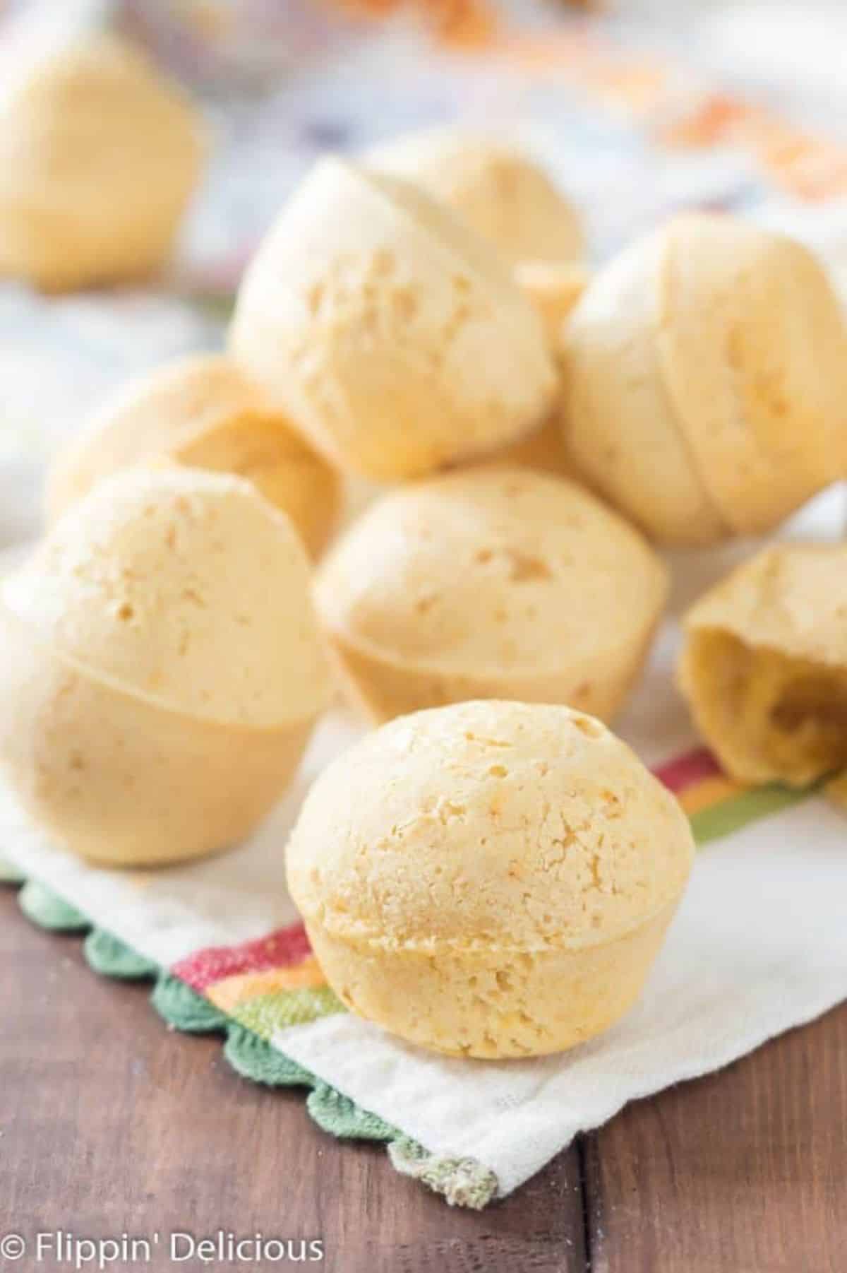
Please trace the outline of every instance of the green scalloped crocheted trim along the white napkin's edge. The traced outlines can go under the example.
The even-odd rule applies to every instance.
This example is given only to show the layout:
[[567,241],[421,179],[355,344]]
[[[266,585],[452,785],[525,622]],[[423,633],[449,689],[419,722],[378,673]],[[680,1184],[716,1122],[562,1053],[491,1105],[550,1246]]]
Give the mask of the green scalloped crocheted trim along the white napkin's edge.
[[[20,875],[0,875],[0,881],[20,883]],[[89,920],[52,892],[31,880],[19,894],[20,909],[34,924],[51,932],[88,932],[85,957],[103,976],[123,980],[153,979],[150,999],[163,1020],[186,1034],[223,1032],[224,1057],[233,1069],[268,1087],[310,1087],[309,1116],[338,1139],[378,1141],[388,1144],[394,1167],[444,1194],[450,1206],[485,1207],[497,1195],[497,1179],[473,1158],[440,1158],[410,1139],[376,1114],[361,1109],[322,1082],[303,1066],[270,1044],[271,1034],[285,1025],[314,1021],[343,1012],[340,999],[326,987],[273,992],[239,1004],[231,1016],[221,1012],[189,985],[139,955],[118,937],[94,928]]]

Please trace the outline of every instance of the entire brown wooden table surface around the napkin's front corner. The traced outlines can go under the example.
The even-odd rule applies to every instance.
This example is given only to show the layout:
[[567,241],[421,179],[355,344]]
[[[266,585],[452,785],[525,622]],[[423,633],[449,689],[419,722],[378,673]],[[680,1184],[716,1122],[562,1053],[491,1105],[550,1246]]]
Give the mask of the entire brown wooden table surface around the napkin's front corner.
[[630,1105],[472,1213],[238,1078],[217,1040],[168,1032],[146,987],[95,976],[5,889],[0,959],[0,1230],[319,1236],[310,1267],[336,1273],[847,1270],[847,1006]]

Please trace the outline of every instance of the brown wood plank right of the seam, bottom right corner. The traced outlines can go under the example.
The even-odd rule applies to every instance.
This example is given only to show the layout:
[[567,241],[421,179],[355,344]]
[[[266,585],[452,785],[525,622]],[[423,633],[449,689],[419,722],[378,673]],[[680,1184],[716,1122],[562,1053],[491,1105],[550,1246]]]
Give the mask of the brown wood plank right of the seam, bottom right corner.
[[847,1006],[584,1146],[594,1273],[844,1273]]

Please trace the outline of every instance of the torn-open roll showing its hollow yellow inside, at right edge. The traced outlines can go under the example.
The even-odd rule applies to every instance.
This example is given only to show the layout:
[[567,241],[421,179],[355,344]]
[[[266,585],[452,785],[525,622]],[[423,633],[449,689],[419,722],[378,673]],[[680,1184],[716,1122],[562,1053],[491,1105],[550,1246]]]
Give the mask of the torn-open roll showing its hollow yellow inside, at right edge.
[[805,787],[847,766],[847,547],[782,544],[684,620],[679,682],[741,782]]

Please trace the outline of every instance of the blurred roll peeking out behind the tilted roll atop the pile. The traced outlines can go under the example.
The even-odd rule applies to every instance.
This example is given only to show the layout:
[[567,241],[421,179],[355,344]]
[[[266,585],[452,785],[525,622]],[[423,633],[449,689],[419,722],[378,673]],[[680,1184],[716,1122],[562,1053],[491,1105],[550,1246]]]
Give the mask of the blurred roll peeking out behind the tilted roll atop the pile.
[[582,258],[574,206],[528,155],[459,129],[406,134],[366,155],[378,172],[415,182],[487,239],[510,266]]

